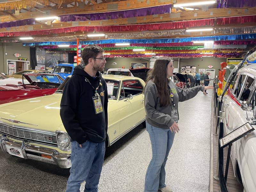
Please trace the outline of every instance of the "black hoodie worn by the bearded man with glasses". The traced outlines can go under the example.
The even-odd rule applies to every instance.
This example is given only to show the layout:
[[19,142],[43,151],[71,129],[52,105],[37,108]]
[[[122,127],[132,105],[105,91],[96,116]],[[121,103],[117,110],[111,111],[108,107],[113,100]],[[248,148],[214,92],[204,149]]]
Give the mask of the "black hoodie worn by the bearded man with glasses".
[[[95,90],[85,77],[98,89],[103,112],[95,114],[92,97]],[[81,65],[75,67],[72,77],[64,87],[60,102],[60,117],[71,138],[79,144],[89,140],[100,143],[106,140],[108,131],[108,91],[105,80],[98,72],[96,78],[88,75]]]

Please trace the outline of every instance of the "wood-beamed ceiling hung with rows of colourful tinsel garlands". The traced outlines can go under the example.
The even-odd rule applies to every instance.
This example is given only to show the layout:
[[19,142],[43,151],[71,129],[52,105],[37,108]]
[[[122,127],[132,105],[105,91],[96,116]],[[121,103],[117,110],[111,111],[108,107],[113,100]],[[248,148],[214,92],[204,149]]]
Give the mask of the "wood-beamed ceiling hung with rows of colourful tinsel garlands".
[[[193,3],[205,1],[193,0]],[[16,4],[13,1],[0,3],[2,43],[22,42],[27,46],[47,46],[52,49],[57,49],[56,45],[59,44],[69,44],[70,48],[65,50],[74,51],[74,42],[79,38],[82,45],[95,43],[108,47],[107,50],[111,53],[109,57],[122,54],[125,56],[128,53],[136,57],[136,54],[132,54],[132,48],[116,48],[114,45],[131,43],[131,47],[147,47],[145,52],[139,52],[138,56],[146,52],[157,52],[158,55],[168,52],[169,56],[172,56],[171,53],[182,53],[183,55],[173,57],[184,58],[193,57],[193,53],[200,52],[214,52],[216,54],[212,56],[218,57],[241,57],[247,51],[255,50],[256,46],[255,6],[217,8],[217,4],[214,3],[173,7],[175,4],[191,3],[190,0],[21,0],[17,1],[20,2],[18,5],[14,2]],[[161,12],[164,6],[171,8],[169,12]],[[147,10],[150,7],[153,7],[157,14],[152,11],[153,9]],[[120,15],[112,18],[109,12],[120,12]],[[108,16],[103,17],[104,14]],[[50,16],[58,19],[35,20]],[[212,28],[212,31],[186,32],[188,28]],[[87,36],[97,33],[103,33],[105,36]],[[30,36],[33,39],[20,40],[21,36]],[[204,43],[193,43],[204,39],[214,41],[215,45],[203,49]],[[168,48],[174,45],[176,48]],[[202,51],[198,50],[198,47]]]

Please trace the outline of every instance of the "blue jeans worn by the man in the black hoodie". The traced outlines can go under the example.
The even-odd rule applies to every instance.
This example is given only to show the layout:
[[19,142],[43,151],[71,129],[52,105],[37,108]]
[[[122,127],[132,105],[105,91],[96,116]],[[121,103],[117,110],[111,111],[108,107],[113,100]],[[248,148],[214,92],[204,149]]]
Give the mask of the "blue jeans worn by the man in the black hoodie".
[[80,192],[80,184],[85,180],[84,192],[98,192],[102,170],[105,141],[92,143],[86,141],[79,147],[78,142],[71,142],[71,168],[66,192]]

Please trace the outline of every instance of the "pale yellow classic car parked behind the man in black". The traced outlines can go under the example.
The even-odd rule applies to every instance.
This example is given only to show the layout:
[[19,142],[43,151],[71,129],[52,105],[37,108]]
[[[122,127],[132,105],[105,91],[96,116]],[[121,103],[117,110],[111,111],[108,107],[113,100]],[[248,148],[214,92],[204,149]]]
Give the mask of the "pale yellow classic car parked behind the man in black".
[[[0,146],[4,152],[25,159],[71,167],[70,138],[60,119],[62,90],[52,95],[0,105]],[[145,123],[145,82],[137,77],[103,75],[108,86],[110,146],[140,123]]]

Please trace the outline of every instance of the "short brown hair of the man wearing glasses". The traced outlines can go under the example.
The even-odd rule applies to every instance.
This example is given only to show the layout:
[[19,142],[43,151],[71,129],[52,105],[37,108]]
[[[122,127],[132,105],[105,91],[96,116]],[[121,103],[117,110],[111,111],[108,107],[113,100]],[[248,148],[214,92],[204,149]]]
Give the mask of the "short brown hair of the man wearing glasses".
[[90,58],[96,58],[99,53],[103,53],[103,52],[104,50],[100,46],[95,44],[84,47],[84,50],[82,51],[82,54],[81,54],[82,59],[84,61],[84,65],[88,64],[89,62],[88,60]]

